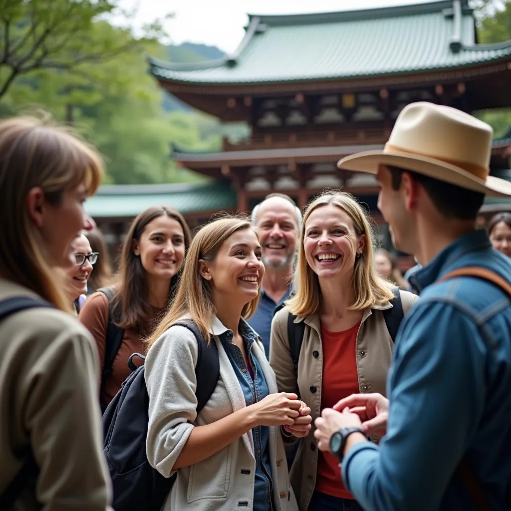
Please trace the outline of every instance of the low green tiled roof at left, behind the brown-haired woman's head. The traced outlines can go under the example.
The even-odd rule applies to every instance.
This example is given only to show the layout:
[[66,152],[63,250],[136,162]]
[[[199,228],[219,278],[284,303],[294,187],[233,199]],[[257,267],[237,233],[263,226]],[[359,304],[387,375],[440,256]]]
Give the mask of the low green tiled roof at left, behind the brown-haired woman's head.
[[183,214],[229,210],[236,207],[230,184],[105,185],[85,203],[92,218],[134,217],[146,208],[167,205]]

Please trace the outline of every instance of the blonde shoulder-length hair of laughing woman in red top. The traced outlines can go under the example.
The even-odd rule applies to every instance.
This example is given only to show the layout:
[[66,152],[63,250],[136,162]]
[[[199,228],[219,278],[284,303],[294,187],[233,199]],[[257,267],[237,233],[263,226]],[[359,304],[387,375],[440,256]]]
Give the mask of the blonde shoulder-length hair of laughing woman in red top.
[[295,294],[286,302],[288,309],[297,316],[310,316],[318,313],[320,309],[319,280],[305,257],[305,225],[313,211],[329,204],[339,207],[352,219],[358,237],[365,235],[364,249],[360,257],[355,259],[353,272],[355,303],[350,310],[358,311],[376,304],[384,304],[393,297],[392,285],[381,278],[376,271],[373,231],[367,214],[353,195],[339,191],[323,192],[308,205],[301,228],[298,260],[294,275]]

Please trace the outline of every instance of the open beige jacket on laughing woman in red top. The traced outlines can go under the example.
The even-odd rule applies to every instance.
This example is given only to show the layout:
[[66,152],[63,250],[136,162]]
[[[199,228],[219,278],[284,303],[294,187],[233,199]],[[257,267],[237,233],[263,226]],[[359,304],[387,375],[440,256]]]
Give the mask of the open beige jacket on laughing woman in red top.
[[[418,296],[401,291],[403,311],[408,312]],[[390,366],[393,343],[387,331],[382,310],[391,308],[387,303],[367,309],[357,334],[357,369],[360,392],[379,392],[385,396],[387,372]],[[271,324],[270,364],[275,371],[279,392],[295,392],[296,384],[300,397],[311,408],[312,420],[321,412],[321,375],[323,358],[321,349],[321,328],[317,314],[296,318],[305,321],[304,340],[298,361],[298,382],[294,375],[293,361],[289,352],[287,334],[287,308],[278,311]],[[317,353],[314,353],[317,352]],[[314,354],[317,355],[314,357]],[[319,354],[319,355],[318,355]],[[316,486],[317,446],[313,428],[304,438],[291,470],[291,484],[298,500],[300,511],[307,511]],[[294,439],[294,437],[292,437]],[[377,438],[374,438],[378,441]],[[286,439],[287,442],[289,440]]]

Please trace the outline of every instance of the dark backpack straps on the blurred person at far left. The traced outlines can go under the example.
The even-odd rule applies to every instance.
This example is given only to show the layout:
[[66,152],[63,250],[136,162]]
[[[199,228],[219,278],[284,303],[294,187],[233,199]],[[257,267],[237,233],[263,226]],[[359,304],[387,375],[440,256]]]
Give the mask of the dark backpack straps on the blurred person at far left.
[[[53,305],[48,301],[31,298],[29,296],[15,296],[0,301],[0,321],[6,319],[11,314],[21,312],[26,309],[33,309],[35,307],[51,307]],[[20,471],[16,474],[14,479],[7,485],[6,489],[0,494],[0,509],[8,511],[14,502],[18,499],[21,491],[27,484],[27,479],[39,471],[37,463],[30,452],[27,461],[23,464]]]

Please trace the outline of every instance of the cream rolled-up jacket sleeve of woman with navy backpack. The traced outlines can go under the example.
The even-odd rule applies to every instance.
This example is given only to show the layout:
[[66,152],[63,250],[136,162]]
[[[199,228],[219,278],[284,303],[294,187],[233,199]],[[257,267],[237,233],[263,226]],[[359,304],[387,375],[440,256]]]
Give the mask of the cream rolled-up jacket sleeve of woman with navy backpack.
[[161,475],[170,477],[197,418],[198,344],[187,328],[174,326],[152,346],[145,361],[149,394],[147,459]]

